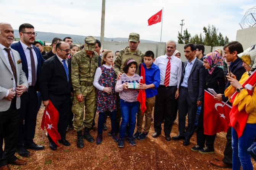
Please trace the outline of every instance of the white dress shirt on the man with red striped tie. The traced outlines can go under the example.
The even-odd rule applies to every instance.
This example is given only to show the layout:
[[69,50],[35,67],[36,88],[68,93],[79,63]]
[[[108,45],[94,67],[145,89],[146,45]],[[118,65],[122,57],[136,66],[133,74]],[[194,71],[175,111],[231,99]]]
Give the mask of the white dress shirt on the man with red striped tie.
[[[155,64],[160,69],[160,85],[164,85],[165,71],[168,63],[167,55],[157,57]],[[182,62],[178,57],[171,56],[170,59],[171,71],[170,71],[170,82],[169,86],[177,86],[179,88],[181,73],[182,73]]]

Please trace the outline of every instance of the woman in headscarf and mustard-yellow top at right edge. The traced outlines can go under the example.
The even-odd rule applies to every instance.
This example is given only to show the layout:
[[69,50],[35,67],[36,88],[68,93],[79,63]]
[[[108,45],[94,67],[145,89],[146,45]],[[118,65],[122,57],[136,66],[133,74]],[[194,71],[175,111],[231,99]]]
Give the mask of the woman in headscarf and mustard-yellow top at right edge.
[[[243,54],[238,54],[238,56],[243,61],[243,67],[245,67],[246,72],[243,74],[240,81],[238,81],[234,75],[227,76],[231,85],[225,90],[225,96],[228,96],[228,98],[237,92],[235,98],[232,99],[233,103],[232,110],[230,111],[230,120],[231,118],[240,120],[239,131],[233,126],[234,124],[232,121],[230,122],[232,125],[232,169],[240,170],[242,165],[243,170],[253,170],[251,156],[247,152],[247,149],[253,144],[256,138],[255,45],[251,46],[249,50],[246,49]],[[246,86],[242,86],[247,79],[251,81],[250,85],[248,85],[248,83]],[[235,110],[234,108],[238,108],[238,110]],[[238,118],[238,116],[240,117]],[[242,124],[245,126],[241,126]]]

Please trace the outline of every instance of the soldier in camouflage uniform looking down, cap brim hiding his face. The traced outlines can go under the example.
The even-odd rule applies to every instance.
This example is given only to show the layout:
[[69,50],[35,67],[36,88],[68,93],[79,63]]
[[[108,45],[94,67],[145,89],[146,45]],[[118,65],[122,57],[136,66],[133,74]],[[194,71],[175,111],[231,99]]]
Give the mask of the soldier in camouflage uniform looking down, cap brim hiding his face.
[[[94,51],[96,38],[88,36],[84,39],[84,49],[73,55],[71,62],[71,79],[74,88],[72,112],[75,114],[73,126],[77,132],[77,147],[83,148],[83,137],[93,142],[89,133],[96,111],[96,89],[93,86],[95,71],[98,67],[98,54]],[[83,113],[85,105],[84,135]]]

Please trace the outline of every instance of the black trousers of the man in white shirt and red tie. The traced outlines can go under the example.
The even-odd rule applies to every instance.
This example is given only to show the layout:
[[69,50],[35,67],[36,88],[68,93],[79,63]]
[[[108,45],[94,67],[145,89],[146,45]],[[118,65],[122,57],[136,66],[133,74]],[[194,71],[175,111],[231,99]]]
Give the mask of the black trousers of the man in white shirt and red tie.
[[164,120],[164,133],[170,135],[172,131],[173,118],[175,116],[175,93],[177,86],[159,86],[157,89],[154,108],[154,129],[161,132],[162,121]]

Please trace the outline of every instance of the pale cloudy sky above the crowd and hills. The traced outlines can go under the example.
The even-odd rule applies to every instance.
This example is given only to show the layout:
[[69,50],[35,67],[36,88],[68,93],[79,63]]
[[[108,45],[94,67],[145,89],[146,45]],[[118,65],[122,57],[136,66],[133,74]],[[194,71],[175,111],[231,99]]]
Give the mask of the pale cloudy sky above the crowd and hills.
[[[0,0],[0,22],[13,29],[34,25],[36,31],[100,36],[101,0]],[[246,10],[255,0],[106,0],[105,37],[127,37],[137,32],[144,40],[160,41],[161,23],[147,26],[147,20],[164,8],[162,41],[177,40],[181,19],[191,35],[215,25],[229,40],[236,39]]]

